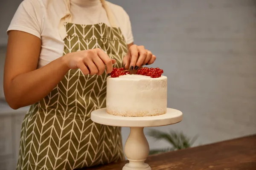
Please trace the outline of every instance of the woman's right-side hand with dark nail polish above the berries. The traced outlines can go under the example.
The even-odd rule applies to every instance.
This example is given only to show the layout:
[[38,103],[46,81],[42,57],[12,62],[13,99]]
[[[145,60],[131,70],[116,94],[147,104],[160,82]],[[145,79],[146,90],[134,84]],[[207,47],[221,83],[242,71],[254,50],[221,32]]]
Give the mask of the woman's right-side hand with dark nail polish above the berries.
[[150,65],[154,63],[156,56],[151,51],[144,48],[143,45],[131,45],[128,49],[128,53],[123,59],[123,65],[125,69],[137,70],[142,65]]

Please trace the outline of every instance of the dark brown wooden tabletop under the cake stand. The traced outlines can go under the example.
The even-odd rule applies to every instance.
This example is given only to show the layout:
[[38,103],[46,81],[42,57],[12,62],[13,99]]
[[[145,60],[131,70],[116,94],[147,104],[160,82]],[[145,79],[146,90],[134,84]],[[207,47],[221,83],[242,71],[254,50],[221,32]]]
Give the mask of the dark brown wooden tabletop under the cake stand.
[[[128,161],[87,170],[122,170]],[[152,170],[256,170],[256,135],[148,156]]]

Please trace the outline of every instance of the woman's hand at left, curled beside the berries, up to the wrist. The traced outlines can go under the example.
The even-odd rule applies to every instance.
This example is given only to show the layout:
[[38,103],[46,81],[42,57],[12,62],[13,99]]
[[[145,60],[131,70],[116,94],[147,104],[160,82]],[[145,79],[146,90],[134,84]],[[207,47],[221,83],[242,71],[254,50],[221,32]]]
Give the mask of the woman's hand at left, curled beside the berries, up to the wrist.
[[102,75],[107,68],[107,74],[113,70],[116,59],[111,59],[100,48],[76,51],[63,56],[64,63],[69,69],[79,68],[84,75]]

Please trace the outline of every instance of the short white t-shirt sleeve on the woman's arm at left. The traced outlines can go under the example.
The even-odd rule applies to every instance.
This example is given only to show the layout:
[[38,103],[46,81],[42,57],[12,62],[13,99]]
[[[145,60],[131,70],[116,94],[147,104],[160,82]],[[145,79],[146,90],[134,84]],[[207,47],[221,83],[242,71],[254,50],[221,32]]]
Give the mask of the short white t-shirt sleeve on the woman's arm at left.
[[39,1],[23,0],[7,29],[23,31],[41,38],[42,8]]

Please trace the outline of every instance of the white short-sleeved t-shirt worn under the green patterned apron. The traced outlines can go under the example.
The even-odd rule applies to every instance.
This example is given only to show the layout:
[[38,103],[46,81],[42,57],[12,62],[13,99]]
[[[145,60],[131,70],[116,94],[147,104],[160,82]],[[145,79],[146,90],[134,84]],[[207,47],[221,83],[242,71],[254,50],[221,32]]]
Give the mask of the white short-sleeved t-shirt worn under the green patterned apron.
[[[70,0],[73,23],[91,25],[105,23],[110,26],[105,9],[100,0]],[[125,10],[113,3],[106,2],[111,8],[127,44],[134,41],[131,22]],[[63,55],[64,41],[58,26],[67,12],[64,0],[23,0],[18,7],[7,30],[24,31],[41,39],[41,53],[38,68]]]

